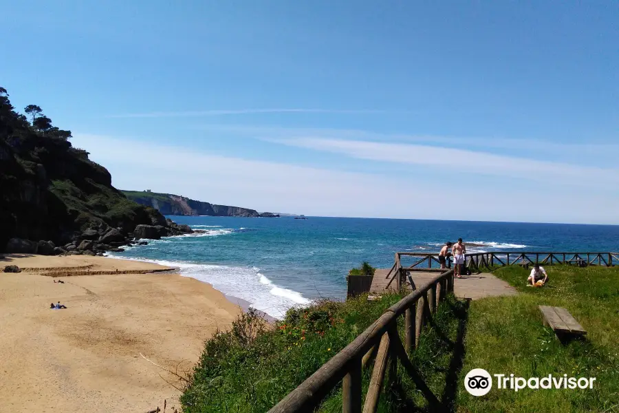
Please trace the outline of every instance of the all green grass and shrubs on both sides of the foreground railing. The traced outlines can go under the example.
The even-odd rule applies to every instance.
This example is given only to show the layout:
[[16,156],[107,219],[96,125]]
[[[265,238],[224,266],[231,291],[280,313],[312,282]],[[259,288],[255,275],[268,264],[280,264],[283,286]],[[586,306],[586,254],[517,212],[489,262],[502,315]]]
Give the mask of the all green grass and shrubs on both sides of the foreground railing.
[[[619,268],[547,266],[550,284],[528,288],[528,271],[500,268],[495,274],[519,290],[511,297],[461,301],[448,295],[424,328],[411,354],[413,365],[447,412],[619,411]],[[206,342],[182,396],[184,412],[265,412],[344,348],[402,295],[366,296],[345,303],[325,301],[291,310],[269,328],[243,315],[229,332]],[[588,331],[567,345],[542,324],[538,306],[563,306]],[[404,317],[398,319],[403,341]],[[363,398],[372,363],[363,371]],[[596,377],[593,390],[464,390],[473,368],[518,377]],[[398,363],[387,374],[378,412],[430,412],[431,406]],[[341,389],[319,412],[340,412]],[[614,409],[614,410],[613,410]]]

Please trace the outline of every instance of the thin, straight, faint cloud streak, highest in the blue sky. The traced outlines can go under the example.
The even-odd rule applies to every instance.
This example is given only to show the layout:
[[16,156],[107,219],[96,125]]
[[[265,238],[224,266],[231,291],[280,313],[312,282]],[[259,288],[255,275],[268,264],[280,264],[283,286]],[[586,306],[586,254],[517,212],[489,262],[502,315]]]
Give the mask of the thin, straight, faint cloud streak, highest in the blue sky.
[[[232,116],[251,114],[384,114],[389,111],[378,109],[302,109],[302,108],[267,108],[267,109],[208,109],[185,112],[149,112],[143,114],[109,115],[109,118],[180,118],[180,117],[207,117]],[[406,113],[406,112],[399,112]]]

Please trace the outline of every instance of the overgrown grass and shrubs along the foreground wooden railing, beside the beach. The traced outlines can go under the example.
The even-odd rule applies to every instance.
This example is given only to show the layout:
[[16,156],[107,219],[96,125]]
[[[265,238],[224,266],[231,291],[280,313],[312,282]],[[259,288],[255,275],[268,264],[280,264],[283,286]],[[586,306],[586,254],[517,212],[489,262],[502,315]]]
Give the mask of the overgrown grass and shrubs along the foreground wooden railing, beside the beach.
[[[206,342],[205,350],[182,396],[184,412],[265,412],[355,339],[402,295],[367,296],[346,302],[324,301],[301,310],[290,310],[273,328],[259,317],[242,315],[228,332]],[[439,306],[432,328],[424,329],[413,362],[428,386],[442,394],[446,382],[457,378],[449,366],[457,337],[461,301],[449,296]],[[404,317],[398,320],[404,331]],[[403,337],[402,337],[403,339]],[[364,369],[364,397],[372,363]],[[424,408],[426,402],[400,366],[391,390],[380,400],[379,412]],[[320,412],[341,412],[341,389],[329,394]]]

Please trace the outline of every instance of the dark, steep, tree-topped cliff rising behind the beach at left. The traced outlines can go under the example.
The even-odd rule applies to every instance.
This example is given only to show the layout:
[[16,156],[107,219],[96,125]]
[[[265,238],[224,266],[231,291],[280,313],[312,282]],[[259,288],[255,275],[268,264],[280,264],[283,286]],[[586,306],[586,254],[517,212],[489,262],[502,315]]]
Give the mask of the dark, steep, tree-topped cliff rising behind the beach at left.
[[78,244],[87,230],[98,242],[114,229],[107,240],[126,244],[140,224],[170,228],[156,209],[112,187],[107,169],[72,146],[70,131],[54,127],[36,105],[25,112],[16,112],[0,87],[0,251],[43,251],[36,245],[44,242],[50,252],[50,245]]

